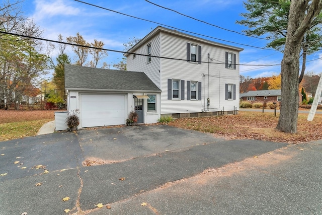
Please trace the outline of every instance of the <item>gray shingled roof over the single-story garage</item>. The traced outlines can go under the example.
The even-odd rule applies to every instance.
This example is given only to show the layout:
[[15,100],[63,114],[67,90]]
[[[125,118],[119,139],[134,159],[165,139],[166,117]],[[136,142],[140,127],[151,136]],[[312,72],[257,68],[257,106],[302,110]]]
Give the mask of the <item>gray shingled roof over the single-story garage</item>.
[[70,64],[65,64],[65,89],[161,92],[144,73]]

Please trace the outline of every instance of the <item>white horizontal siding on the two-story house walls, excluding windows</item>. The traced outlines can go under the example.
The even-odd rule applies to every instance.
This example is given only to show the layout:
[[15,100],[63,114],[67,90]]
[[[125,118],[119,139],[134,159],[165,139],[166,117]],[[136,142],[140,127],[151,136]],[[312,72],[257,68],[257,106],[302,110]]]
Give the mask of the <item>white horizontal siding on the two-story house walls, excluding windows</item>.
[[[146,44],[151,43],[152,55],[171,57],[178,59],[187,58],[187,44],[197,44],[202,47],[201,64],[188,63],[187,60],[173,60],[165,58],[153,58],[152,61],[146,64],[146,57],[136,56],[135,61],[132,57],[128,59],[128,70],[144,71],[144,73],[162,90],[160,113],[195,113],[201,112],[202,109],[207,108],[207,98],[210,99],[209,110],[233,110],[234,106],[239,110],[239,100],[225,100],[225,84],[235,85],[235,97],[239,98],[239,54],[235,49],[228,49],[226,47],[215,46],[202,40],[194,40],[192,37],[181,37],[179,35],[170,34],[168,32],[159,32],[151,40],[142,44],[139,48],[133,50],[139,53],[138,50],[143,50],[146,53]],[[209,63],[209,77],[207,54],[210,57],[221,62],[225,62],[225,53],[230,52],[235,54],[235,69],[225,68],[223,64]],[[129,58],[129,57],[128,57]],[[136,63],[140,58],[144,58],[142,63]],[[133,65],[134,64],[134,65]],[[205,75],[205,76],[204,76]],[[220,77],[220,79],[219,79]],[[208,80],[209,78],[209,80]],[[185,98],[169,99],[168,80],[184,80],[184,89],[180,92],[185,92]],[[191,100],[188,97],[188,81],[200,83],[200,91],[197,89],[198,100]],[[209,86],[208,86],[209,81]],[[209,91],[208,91],[209,89]],[[200,98],[199,98],[199,92]],[[180,95],[181,97],[181,95]],[[179,98],[180,98],[179,97]]]

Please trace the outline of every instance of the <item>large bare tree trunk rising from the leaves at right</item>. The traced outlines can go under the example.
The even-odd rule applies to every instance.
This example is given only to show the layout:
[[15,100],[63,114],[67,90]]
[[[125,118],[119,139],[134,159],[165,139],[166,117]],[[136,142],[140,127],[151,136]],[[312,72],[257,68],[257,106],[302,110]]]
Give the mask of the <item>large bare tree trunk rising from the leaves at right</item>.
[[288,133],[297,131],[298,114],[298,75],[301,42],[311,21],[322,8],[321,0],[310,2],[307,14],[308,0],[291,1],[284,56],[281,62],[281,112],[277,129]]

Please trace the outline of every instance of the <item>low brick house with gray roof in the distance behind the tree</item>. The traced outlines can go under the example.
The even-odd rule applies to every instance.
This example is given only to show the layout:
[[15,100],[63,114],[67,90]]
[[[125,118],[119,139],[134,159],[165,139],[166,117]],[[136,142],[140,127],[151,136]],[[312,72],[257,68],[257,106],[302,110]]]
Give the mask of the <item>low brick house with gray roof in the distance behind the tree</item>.
[[282,97],[281,90],[256,90],[240,93],[239,98],[251,103],[261,102],[266,104],[268,102],[281,102]]

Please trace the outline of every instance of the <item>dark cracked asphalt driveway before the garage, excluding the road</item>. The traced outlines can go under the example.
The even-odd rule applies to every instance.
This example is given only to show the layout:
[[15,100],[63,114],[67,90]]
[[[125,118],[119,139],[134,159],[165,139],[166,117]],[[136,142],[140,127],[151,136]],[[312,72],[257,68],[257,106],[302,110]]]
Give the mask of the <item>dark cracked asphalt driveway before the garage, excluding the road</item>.
[[[286,144],[143,125],[57,132],[0,146],[0,174],[7,173],[0,177],[0,214],[66,214],[65,209],[91,211]],[[86,160],[104,165],[83,166]]]

